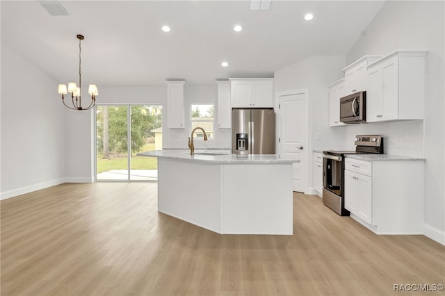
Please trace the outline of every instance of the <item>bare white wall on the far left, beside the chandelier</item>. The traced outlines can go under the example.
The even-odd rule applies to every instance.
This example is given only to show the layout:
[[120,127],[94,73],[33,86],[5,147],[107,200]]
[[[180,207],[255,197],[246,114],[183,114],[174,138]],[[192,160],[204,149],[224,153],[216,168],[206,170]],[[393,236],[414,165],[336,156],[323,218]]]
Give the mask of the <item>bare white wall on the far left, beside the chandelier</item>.
[[63,183],[65,110],[58,82],[1,44],[1,199]]

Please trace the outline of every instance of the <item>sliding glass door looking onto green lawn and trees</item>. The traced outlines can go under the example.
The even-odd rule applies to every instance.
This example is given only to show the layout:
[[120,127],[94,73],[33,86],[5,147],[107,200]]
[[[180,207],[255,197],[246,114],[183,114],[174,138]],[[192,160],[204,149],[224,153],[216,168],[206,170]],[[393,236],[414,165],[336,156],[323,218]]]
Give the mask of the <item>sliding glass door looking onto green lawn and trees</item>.
[[162,149],[162,106],[96,106],[96,180],[157,181],[156,158],[138,156]]

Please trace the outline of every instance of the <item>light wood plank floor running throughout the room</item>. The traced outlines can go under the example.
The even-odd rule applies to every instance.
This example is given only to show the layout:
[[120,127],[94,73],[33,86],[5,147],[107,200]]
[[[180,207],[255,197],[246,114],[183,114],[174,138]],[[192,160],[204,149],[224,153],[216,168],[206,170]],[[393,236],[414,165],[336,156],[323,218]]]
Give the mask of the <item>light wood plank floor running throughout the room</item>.
[[1,295],[403,295],[394,284],[445,283],[444,246],[376,236],[313,195],[294,194],[293,236],[219,235],[163,215],[156,183],[63,184],[0,206]]

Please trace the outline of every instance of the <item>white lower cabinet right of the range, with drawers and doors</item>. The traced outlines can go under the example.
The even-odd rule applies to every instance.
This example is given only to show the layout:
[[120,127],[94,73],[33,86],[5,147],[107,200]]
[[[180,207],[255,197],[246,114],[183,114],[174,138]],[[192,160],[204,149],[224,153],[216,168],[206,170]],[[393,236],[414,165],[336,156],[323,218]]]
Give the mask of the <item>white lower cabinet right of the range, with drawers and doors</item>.
[[380,157],[380,161],[346,157],[345,208],[375,233],[422,234],[423,160]]

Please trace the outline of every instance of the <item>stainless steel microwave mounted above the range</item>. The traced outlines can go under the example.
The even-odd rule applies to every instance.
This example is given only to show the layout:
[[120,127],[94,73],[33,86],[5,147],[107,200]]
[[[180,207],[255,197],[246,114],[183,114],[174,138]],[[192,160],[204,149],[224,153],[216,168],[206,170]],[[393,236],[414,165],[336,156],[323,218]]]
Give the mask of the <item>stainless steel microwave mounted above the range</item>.
[[340,98],[340,121],[344,123],[366,122],[366,92],[356,92]]

